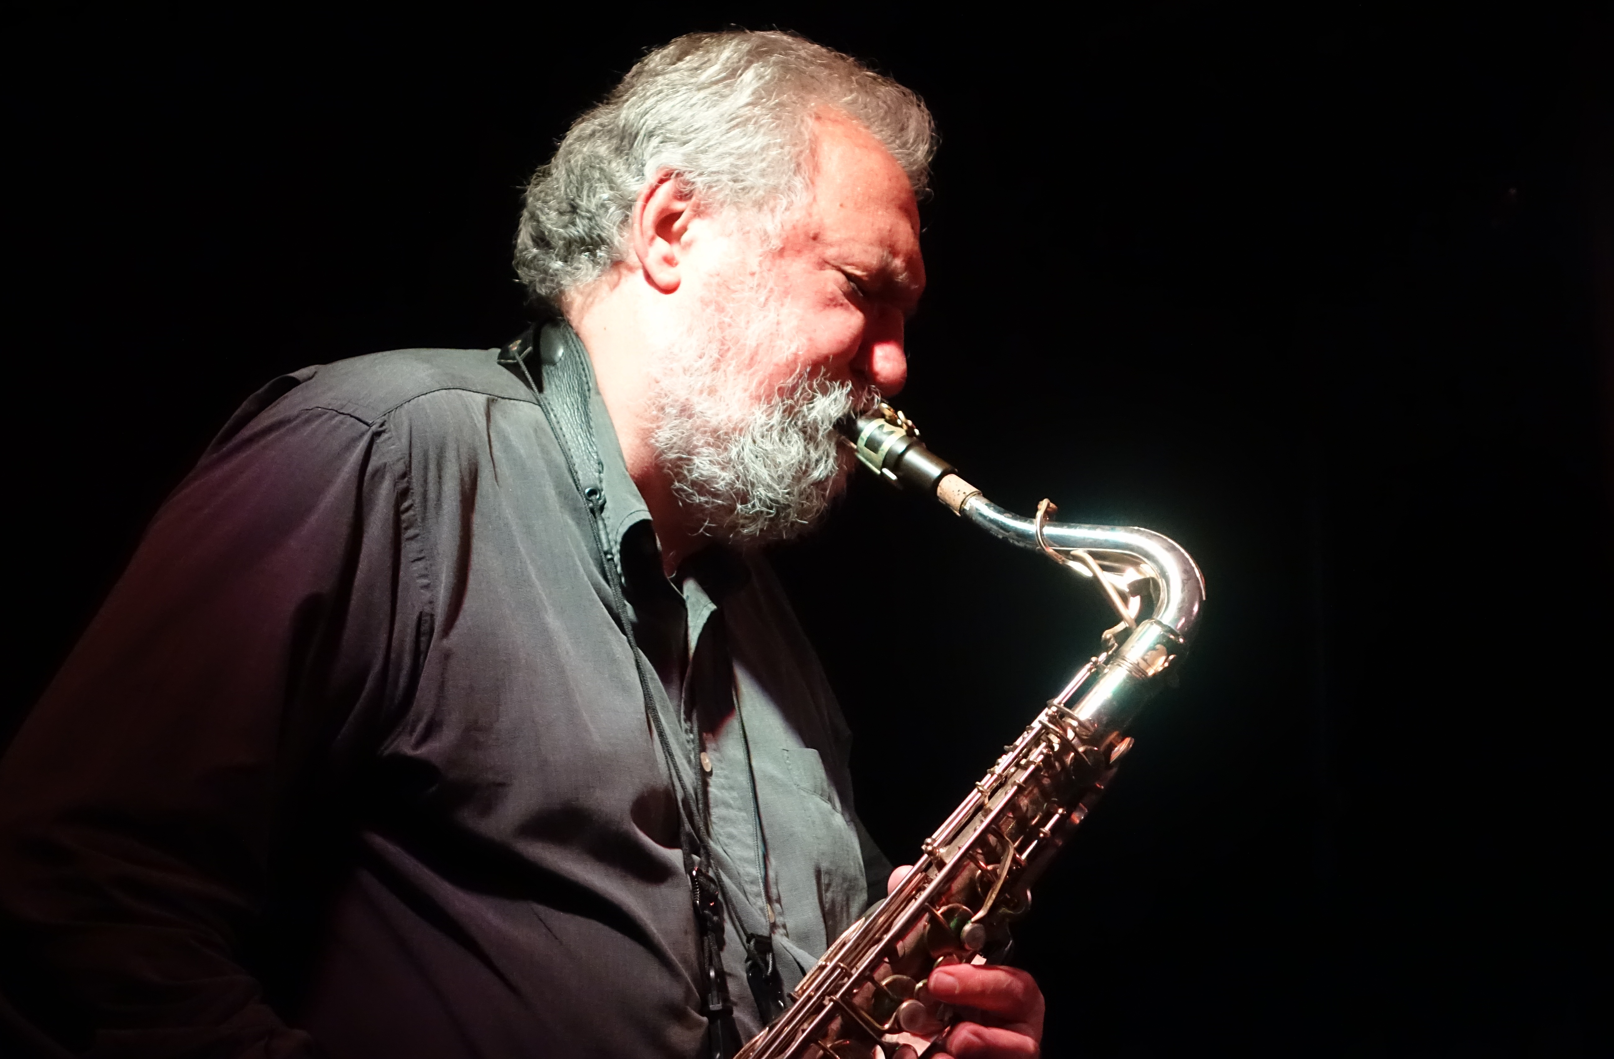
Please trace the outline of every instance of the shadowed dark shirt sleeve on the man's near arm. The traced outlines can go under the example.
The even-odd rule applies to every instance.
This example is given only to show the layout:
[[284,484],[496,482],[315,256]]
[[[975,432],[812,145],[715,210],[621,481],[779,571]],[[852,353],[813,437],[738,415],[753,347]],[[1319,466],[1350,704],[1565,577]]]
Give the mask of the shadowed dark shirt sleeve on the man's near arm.
[[74,1053],[313,1054],[255,938],[428,623],[386,431],[284,404],[163,505],[0,762],[0,1009]]

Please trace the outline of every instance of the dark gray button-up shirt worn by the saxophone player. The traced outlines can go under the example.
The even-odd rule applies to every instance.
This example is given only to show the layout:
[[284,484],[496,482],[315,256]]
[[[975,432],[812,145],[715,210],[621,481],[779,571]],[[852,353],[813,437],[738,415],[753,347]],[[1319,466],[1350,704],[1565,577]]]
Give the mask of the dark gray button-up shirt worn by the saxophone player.
[[[15,1033],[105,1056],[697,1049],[668,765],[555,434],[497,357],[276,379],[157,515],[0,764]],[[771,933],[789,988],[888,865],[767,565],[709,549],[665,578],[592,412],[655,707],[709,785],[749,1035],[736,931]]]

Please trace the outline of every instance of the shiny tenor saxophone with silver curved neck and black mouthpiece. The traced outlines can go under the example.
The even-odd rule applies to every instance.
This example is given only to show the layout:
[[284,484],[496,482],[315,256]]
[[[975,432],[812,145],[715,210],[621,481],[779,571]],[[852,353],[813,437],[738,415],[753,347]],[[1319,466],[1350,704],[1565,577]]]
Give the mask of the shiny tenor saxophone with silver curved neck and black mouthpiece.
[[896,891],[830,946],[791,993],[791,1007],[736,1059],[923,1059],[941,1048],[957,1014],[930,994],[926,977],[946,964],[1007,956],[1009,925],[1031,907],[1031,883],[1131,749],[1123,731],[1188,646],[1204,602],[1204,578],[1173,541],[1135,526],[1049,521],[1047,500],[1035,518],[1006,512],[889,405],[843,433],[883,478],[1094,581],[1119,622],[923,843]]

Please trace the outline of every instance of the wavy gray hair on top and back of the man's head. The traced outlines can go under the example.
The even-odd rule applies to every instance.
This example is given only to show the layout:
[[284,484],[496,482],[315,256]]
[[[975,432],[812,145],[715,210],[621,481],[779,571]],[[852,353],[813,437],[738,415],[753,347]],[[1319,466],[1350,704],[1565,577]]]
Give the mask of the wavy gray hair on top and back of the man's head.
[[641,189],[665,173],[707,207],[776,220],[807,192],[818,110],[868,129],[925,190],[935,126],[909,89],[788,32],[688,34],[639,60],[533,174],[516,274],[552,305],[600,278],[626,252]]

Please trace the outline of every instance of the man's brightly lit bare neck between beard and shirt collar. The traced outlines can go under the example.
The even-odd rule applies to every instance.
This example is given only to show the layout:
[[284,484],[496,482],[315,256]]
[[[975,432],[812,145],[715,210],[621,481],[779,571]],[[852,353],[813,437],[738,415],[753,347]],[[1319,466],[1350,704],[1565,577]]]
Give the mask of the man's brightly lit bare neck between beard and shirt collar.
[[644,315],[636,312],[641,307],[633,303],[634,294],[631,283],[605,278],[567,307],[567,320],[589,354],[628,476],[650,509],[650,523],[662,546],[662,570],[671,576],[684,559],[705,547],[709,538],[691,526],[655,455],[655,344],[647,334]]

